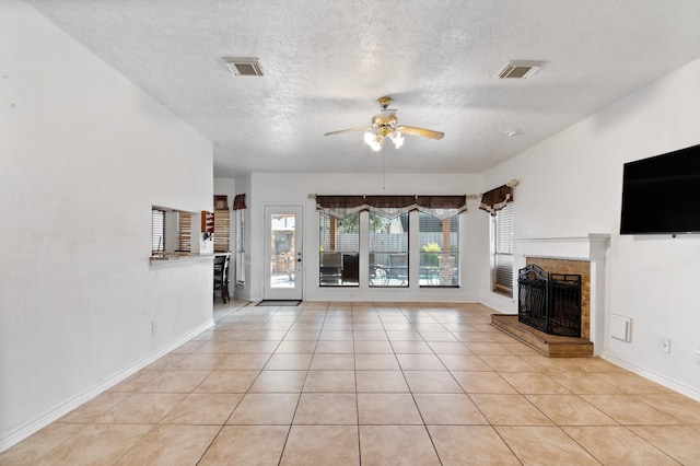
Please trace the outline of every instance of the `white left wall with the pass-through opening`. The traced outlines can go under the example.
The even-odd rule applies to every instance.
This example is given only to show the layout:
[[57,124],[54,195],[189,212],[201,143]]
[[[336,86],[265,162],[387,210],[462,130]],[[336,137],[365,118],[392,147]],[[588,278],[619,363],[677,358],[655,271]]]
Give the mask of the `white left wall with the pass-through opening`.
[[151,206],[213,180],[209,140],[19,0],[0,70],[3,450],[211,325],[211,263],[149,256]]

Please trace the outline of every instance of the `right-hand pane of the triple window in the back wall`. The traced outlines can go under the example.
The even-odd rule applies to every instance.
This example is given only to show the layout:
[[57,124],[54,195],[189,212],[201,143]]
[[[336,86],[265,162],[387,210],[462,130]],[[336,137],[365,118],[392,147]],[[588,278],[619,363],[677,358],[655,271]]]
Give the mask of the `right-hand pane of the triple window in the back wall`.
[[419,213],[420,286],[459,284],[459,217],[444,220]]

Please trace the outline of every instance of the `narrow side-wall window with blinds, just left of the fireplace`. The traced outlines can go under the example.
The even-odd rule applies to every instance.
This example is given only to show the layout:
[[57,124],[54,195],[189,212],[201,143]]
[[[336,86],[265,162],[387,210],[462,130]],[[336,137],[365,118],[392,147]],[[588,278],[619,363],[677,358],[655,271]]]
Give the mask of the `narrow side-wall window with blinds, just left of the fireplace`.
[[491,217],[491,291],[513,296],[513,203]]

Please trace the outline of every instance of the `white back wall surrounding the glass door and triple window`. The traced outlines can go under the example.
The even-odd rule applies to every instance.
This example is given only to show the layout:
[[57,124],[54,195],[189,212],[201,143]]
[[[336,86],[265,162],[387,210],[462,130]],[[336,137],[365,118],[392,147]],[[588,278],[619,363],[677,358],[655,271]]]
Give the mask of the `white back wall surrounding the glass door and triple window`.
[[[370,156],[359,154],[358,156]],[[400,156],[400,151],[396,156]],[[468,174],[405,174],[386,175],[383,189],[382,174],[295,174],[254,173],[248,197],[248,252],[249,282],[246,299],[262,299],[264,284],[264,208],[269,205],[295,205],[303,207],[304,289],[306,301],[447,301],[474,302],[479,299],[481,280],[488,280],[488,269],[481,273],[483,264],[472,245],[486,242],[488,251],[488,215],[478,210],[470,200],[468,211],[460,215],[460,275],[459,289],[381,289],[329,288],[318,286],[318,213],[310,194],[319,195],[459,195],[481,193],[481,177]],[[486,240],[483,236],[486,235]],[[483,277],[482,277],[483,276]]]

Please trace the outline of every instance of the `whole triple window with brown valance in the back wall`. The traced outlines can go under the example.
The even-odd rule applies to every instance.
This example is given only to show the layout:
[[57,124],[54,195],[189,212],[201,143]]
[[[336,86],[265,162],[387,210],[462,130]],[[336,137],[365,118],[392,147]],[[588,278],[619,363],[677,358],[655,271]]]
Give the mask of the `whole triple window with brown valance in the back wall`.
[[[368,271],[370,287],[409,288],[409,258],[413,260],[413,272],[418,271],[418,277],[413,276],[413,284],[448,288],[459,286],[459,213],[467,208],[466,195],[334,195],[315,198],[316,208],[322,212],[322,284],[346,284],[347,259],[352,260],[354,267],[360,251],[358,232],[362,230],[361,269]],[[361,213],[365,211],[366,214]],[[410,213],[416,211],[418,212]],[[345,220],[339,222],[328,215]],[[411,247],[416,251],[412,254],[409,254],[409,215],[419,220],[419,224],[412,228],[420,235],[413,240]],[[345,226],[340,226],[341,224]],[[349,232],[352,233],[352,244],[345,245],[340,233]],[[365,235],[369,236],[366,245]],[[364,260],[368,263],[364,264]],[[353,269],[351,283],[358,281]]]

